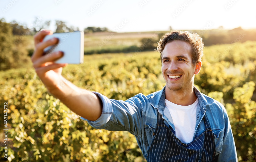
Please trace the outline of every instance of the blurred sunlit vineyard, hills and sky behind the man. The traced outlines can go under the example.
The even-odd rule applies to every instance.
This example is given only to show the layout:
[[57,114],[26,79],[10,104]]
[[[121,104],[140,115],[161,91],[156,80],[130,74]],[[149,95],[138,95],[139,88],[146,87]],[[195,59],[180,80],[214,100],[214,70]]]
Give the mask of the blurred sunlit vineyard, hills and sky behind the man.
[[8,138],[1,129],[0,161],[145,161],[132,134],[96,130],[47,92],[30,61],[33,36],[43,29],[84,31],[84,63],[63,68],[63,76],[122,100],[164,87],[160,54],[154,52],[162,35],[198,33],[205,49],[195,86],[226,107],[238,160],[256,161],[255,5],[253,0],[1,0],[0,127],[8,129]]

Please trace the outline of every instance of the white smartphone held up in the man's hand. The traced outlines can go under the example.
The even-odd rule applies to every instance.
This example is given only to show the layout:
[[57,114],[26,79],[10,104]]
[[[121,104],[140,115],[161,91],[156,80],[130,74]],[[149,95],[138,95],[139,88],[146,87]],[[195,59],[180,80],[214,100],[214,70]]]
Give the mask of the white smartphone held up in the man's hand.
[[44,49],[45,54],[62,51],[63,57],[56,60],[55,63],[82,64],[84,55],[84,32],[74,31],[67,33],[53,33],[46,35],[43,41],[52,38],[58,38],[58,44]]

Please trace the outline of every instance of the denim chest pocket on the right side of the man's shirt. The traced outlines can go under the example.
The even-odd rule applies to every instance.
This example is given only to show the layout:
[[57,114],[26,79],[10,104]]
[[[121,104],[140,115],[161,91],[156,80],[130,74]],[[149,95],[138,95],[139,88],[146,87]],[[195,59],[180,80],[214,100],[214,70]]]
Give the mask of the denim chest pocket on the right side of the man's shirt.
[[215,155],[217,155],[222,150],[224,129],[213,128],[212,133],[214,136],[214,143],[215,143]]

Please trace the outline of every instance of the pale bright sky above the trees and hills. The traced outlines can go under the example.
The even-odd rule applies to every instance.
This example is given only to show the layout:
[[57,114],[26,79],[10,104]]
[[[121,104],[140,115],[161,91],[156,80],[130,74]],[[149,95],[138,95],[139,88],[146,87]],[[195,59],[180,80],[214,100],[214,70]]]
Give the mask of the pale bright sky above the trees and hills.
[[255,0],[0,0],[0,19],[33,27],[36,18],[116,32],[256,28]]

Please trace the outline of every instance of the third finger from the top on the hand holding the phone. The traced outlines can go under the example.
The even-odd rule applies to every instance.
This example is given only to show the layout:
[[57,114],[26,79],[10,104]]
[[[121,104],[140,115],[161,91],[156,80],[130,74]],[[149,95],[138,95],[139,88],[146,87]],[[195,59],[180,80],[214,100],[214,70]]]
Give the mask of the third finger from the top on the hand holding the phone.
[[39,59],[37,59],[37,60],[34,62],[33,67],[34,67],[34,68],[41,67],[42,64],[47,63],[47,62],[53,62],[53,61],[55,61],[55,60],[61,58],[62,56],[63,56],[63,52],[61,52],[61,51],[44,55],[44,56],[40,57]]

